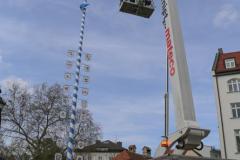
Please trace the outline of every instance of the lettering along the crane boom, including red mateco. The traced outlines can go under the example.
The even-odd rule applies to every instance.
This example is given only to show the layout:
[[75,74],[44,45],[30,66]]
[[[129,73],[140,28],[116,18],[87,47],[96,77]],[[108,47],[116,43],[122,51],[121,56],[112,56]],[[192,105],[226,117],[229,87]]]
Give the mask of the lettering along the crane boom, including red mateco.
[[171,76],[175,75],[175,61],[173,58],[173,44],[171,39],[171,32],[170,28],[167,26],[166,19],[168,18],[168,11],[167,11],[167,2],[166,0],[161,0],[162,2],[162,15],[163,15],[163,25],[165,28],[165,37],[167,42],[167,55],[168,55],[168,63],[169,63],[169,72]]

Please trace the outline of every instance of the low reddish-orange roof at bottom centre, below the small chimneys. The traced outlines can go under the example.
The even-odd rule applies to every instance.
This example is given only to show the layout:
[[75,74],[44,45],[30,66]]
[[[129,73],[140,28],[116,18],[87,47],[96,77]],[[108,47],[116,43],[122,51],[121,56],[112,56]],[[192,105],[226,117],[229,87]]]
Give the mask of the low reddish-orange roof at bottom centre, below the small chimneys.
[[151,157],[129,152],[127,150],[121,152],[120,154],[113,158],[113,160],[148,160],[148,159],[151,159]]

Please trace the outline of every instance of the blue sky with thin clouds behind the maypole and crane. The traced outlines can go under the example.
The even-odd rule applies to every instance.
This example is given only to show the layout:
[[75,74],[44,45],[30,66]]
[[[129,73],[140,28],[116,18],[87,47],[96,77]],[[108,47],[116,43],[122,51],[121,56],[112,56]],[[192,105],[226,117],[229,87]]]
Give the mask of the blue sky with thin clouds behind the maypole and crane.
[[[72,84],[66,52],[78,48],[81,0],[0,0],[0,81]],[[197,120],[219,148],[211,67],[218,48],[238,51],[240,1],[177,0]],[[103,139],[150,146],[163,136],[165,38],[159,1],[150,19],[119,12],[117,0],[89,0],[84,52],[91,53],[89,110]],[[80,96],[82,98],[82,96]],[[174,111],[171,102],[171,132]]]

